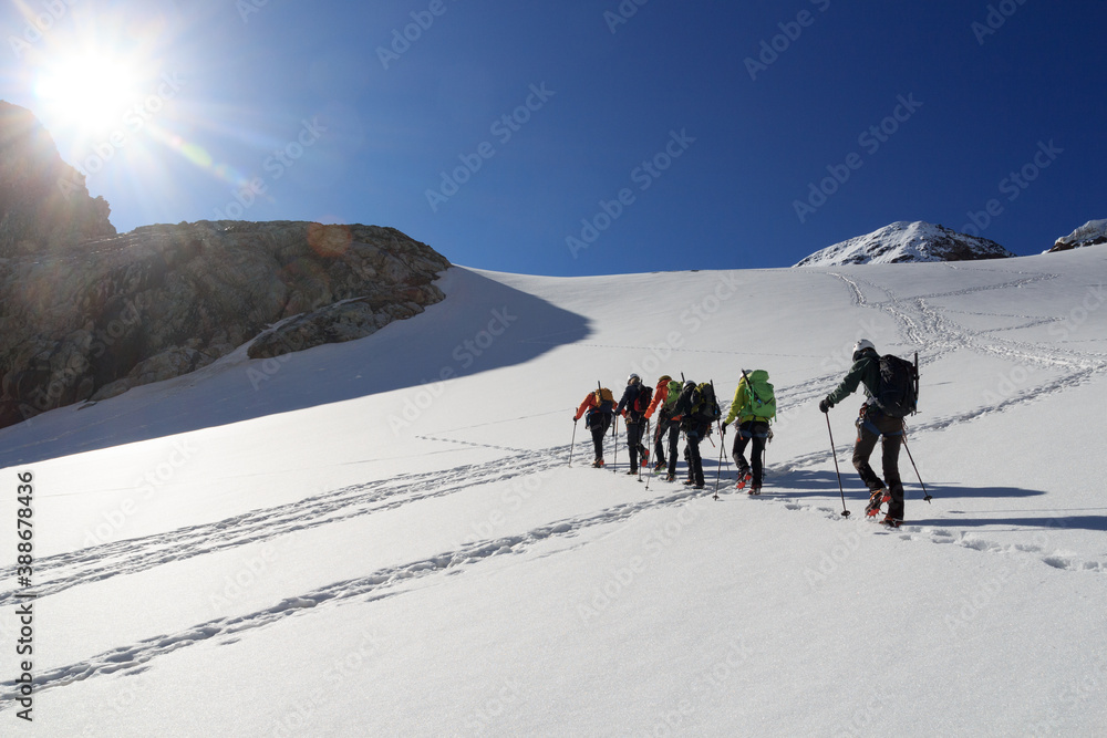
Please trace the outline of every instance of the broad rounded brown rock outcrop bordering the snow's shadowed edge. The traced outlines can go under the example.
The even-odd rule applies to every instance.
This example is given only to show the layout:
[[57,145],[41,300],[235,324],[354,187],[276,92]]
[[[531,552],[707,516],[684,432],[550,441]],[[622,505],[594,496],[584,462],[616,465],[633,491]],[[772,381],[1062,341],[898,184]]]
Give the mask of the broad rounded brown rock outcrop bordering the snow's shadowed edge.
[[[449,263],[376,226],[146,226],[0,259],[0,426],[210,364],[362,337],[443,299]],[[257,339],[257,341],[255,341]]]

